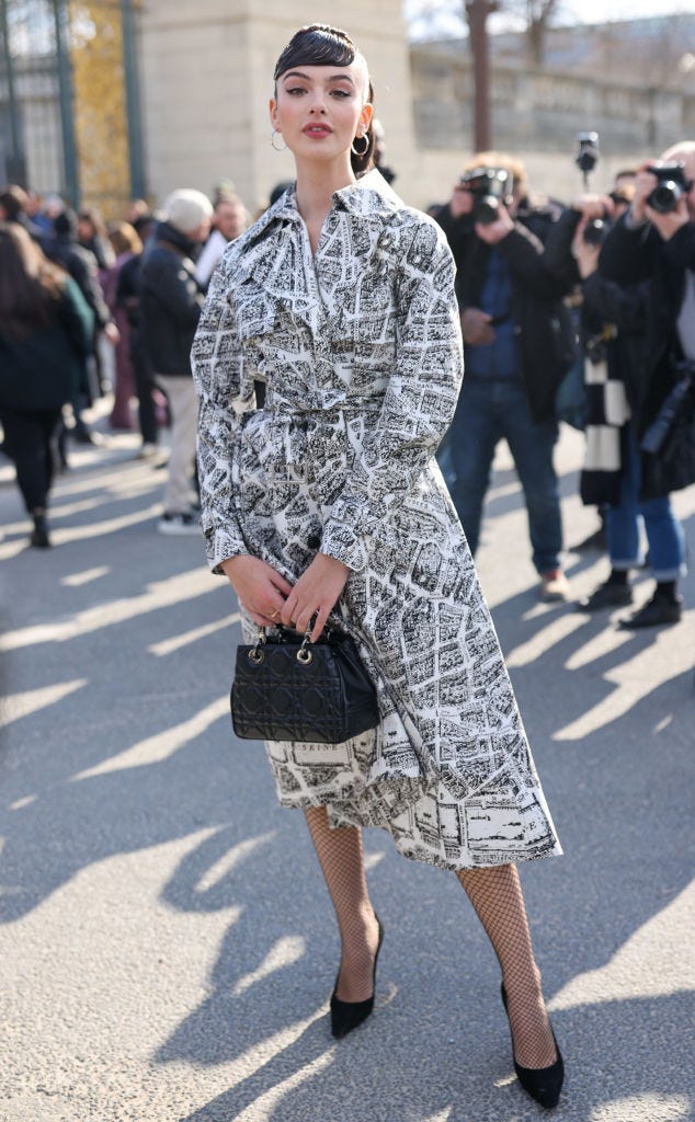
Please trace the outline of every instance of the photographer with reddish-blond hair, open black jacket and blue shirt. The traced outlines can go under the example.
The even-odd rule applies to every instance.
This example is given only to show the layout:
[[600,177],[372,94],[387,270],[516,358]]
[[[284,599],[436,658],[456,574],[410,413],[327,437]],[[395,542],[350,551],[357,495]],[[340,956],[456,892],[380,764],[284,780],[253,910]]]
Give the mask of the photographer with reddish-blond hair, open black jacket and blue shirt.
[[435,213],[457,265],[466,377],[440,456],[475,552],[495,447],[505,438],[523,487],[542,599],[565,599],[563,531],[552,452],[555,396],[573,359],[560,297],[573,277],[546,268],[543,241],[559,209],[532,206],[523,165],[482,153]]

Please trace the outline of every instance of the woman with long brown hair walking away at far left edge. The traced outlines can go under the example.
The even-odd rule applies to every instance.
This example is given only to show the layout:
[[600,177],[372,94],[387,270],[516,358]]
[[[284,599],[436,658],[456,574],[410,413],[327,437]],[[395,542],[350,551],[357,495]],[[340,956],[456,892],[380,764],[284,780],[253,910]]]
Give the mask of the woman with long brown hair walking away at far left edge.
[[92,327],[75,282],[20,226],[0,222],[0,421],[38,548],[51,545],[53,445],[62,406],[83,376]]

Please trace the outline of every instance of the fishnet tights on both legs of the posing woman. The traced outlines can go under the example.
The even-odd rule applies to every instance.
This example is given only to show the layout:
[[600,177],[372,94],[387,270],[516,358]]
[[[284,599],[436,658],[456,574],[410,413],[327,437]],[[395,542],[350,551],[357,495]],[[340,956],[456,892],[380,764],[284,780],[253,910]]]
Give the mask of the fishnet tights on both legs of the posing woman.
[[[332,830],[326,807],[312,807],[304,813],[340,929],[337,996],[341,1001],[366,1001],[373,992],[378,926],[367,891],[362,830]],[[465,868],[456,875],[500,960],[516,1063],[522,1067],[549,1067],[557,1052],[516,867]]]

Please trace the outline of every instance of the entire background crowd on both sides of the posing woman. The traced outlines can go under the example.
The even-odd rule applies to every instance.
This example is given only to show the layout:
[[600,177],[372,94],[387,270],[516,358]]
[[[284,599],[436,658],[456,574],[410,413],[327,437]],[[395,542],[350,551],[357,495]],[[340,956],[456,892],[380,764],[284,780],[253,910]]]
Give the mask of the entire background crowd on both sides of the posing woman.
[[[383,129],[375,125],[373,162],[392,182]],[[682,167],[682,190],[665,213],[649,205],[659,180],[644,167],[621,172],[606,194],[585,193],[566,206],[534,195],[521,160],[494,151],[464,162],[450,200],[429,211],[457,266],[466,378],[438,457],[470,549],[475,553],[481,536],[495,448],[505,439],[523,489],[540,596],[571,597],[554,465],[559,420],[568,419],[585,430],[580,491],[598,509],[596,537],[610,559],[605,581],[579,601],[583,610],[631,605],[630,572],[644,563],[640,519],[644,525],[655,590],[621,626],[676,623],[682,615],[677,582],[685,544],[668,496],[695,477],[688,420],[694,149],[693,142],[678,144],[655,160]],[[287,186],[277,185],[271,205]],[[158,459],[159,431],[171,426],[158,528],[196,533],[190,350],[214,269],[249,223],[234,184],[222,182],[212,200],[174,191],[157,212],[134,200],[122,221],[108,227],[93,208],[75,213],[57,195],[42,201],[10,185],[0,193],[0,222],[3,450],[17,466],[27,509],[42,519],[33,543],[49,542],[51,479],[66,466],[71,441],[98,439],[84,414],[106,392],[112,393],[110,426],[139,430],[143,458]],[[24,284],[9,280],[15,273]],[[63,304],[72,301],[91,324],[86,347],[62,323],[63,304],[46,305],[45,293],[60,275],[68,293]],[[34,352],[55,332],[63,343],[67,339],[68,360],[60,348],[53,360],[62,364],[54,386],[65,397],[56,403],[48,395],[47,403],[40,388],[34,394],[27,387],[43,362]],[[46,370],[37,377],[37,386],[51,380]],[[642,447],[670,390],[688,378],[691,388],[659,449]],[[567,392],[574,394],[574,416],[563,407]],[[28,402],[37,414],[31,424]]]

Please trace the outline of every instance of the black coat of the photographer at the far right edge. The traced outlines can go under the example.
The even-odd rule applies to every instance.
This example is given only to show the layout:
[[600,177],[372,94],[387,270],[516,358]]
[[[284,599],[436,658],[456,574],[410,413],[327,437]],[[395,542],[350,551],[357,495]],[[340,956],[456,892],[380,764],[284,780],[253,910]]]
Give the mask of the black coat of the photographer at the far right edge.
[[[640,438],[657,417],[665,399],[678,381],[677,364],[683,359],[677,320],[685,291],[685,270],[695,269],[695,223],[682,227],[664,241],[653,227],[631,230],[621,219],[611,230],[601,251],[600,277],[592,294],[594,306],[603,303],[606,319],[632,327],[629,368],[629,399],[633,426]],[[611,296],[613,282],[618,291]],[[603,297],[603,298],[602,298]],[[628,316],[628,320],[624,318]],[[695,429],[682,425],[677,443],[668,441],[661,453],[642,454],[642,497],[667,495],[695,482]]]

